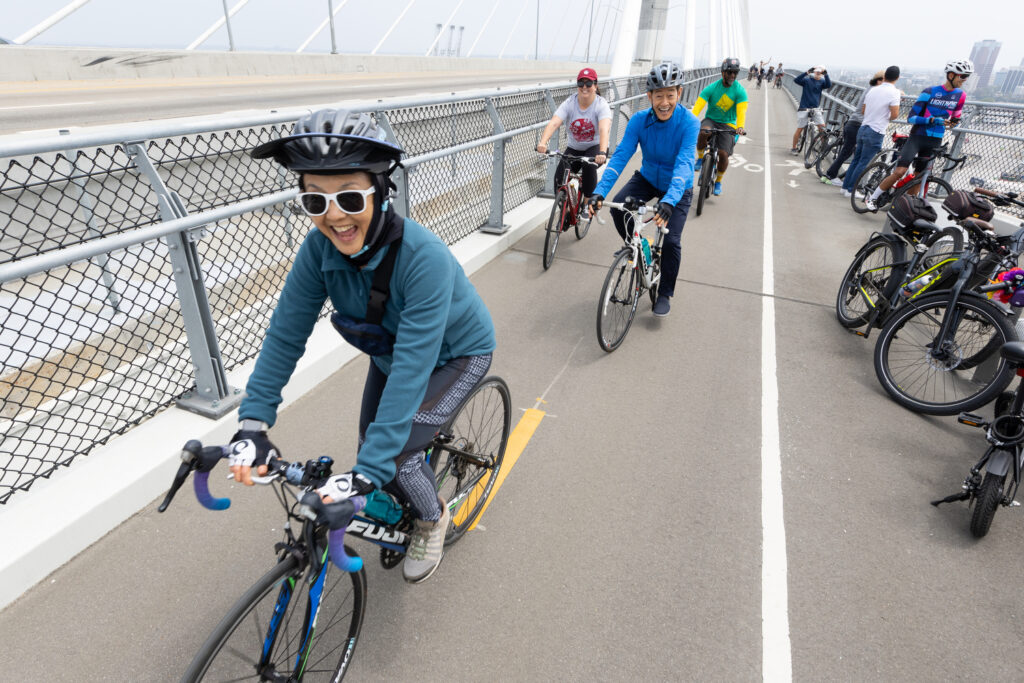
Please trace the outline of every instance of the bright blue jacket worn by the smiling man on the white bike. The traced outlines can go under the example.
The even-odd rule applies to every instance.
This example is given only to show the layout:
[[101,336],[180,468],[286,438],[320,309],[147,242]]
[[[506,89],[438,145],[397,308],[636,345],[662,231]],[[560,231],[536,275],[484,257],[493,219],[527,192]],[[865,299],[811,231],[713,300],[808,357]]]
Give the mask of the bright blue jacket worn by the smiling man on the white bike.
[[663,202],[675,206],[683,193],[693,186],[693,159],[699,131],[700,122],[682,104],[676,104],[668,121],[658,121],[652,109],[637,112],[626,124],[623,140],[608,160],[608,168],[594,194],[608,196],[639,144],[643,155],[640,175],[663,194]]

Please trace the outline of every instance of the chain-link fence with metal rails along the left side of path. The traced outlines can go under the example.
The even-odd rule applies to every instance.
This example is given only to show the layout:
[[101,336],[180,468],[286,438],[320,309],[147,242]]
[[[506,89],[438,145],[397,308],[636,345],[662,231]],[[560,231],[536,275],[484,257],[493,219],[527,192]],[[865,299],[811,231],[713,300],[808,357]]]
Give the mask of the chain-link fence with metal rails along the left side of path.
[[[600,84],[612,145],[646,106],[643,78]],[[688,73],[684,103],[714,78]],[[500,231],[550,185],[534,147],[574,91],[376,110],[407,153],[398,206],[450,245]],[[237,404],[226,373],[259,352],[311,229],[292,208],[296,178],[248,152],[303,112],[0,137],[0,504],[175,402],[211,417]]]

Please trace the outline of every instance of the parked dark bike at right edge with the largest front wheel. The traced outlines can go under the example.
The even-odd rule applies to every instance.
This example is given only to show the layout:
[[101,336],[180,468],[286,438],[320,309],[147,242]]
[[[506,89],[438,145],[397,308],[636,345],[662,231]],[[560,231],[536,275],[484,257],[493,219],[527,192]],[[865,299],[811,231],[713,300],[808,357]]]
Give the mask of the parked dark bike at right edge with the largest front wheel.
[[984,283],[994,275],[993,268],[1016,266],[1024,228],[1000,237],[979,219],[958,224],[970,241],[964,255],[943,268],[941,279],[951,286],[906,299],[888,316],[874,347],[874,373],[882,387],[904,408],[927,415],[956,415],[984,405],[1013,379],[998,349],[1017,340],[1016,314],[984,296],[1004,285]]

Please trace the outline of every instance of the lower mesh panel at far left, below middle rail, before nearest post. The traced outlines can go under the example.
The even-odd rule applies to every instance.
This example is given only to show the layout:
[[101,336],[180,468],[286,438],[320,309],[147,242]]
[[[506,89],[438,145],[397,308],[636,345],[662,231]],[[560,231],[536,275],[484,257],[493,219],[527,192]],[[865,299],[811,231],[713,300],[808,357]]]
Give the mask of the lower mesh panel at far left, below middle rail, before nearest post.
[[0,503],[191,383],[162,243],[5,283],[0,315]]

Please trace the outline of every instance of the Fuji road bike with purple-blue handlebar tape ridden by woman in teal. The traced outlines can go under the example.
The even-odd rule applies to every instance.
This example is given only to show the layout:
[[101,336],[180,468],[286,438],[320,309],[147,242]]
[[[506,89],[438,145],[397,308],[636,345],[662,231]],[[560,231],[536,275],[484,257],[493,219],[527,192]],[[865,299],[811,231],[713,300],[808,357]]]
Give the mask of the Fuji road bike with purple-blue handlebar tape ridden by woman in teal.
[[[446,502],[451,521],[444,546],[471,528],[494,492],[511,423],[508,386],[481,381],[438,430],[427,462]],[[210,471],[227,446],[188,441],[160,512],[194,474],[196,497],[211,510],[230,501],[214,498]],[[340,681],[358,641],[367,603],[362,558],[345,545],[346,533],[380,546],[385,568],[397,566],[409,546],[413,511],[383,490],[324,503],[315,489],[331,476],[333,461],[305,463],[273,458],[266,476],[285,510],[285,537],[274,545],[278,563],[246,591],[196,654],[182,681]],[[361,514],[359,514],[361,513]],[[304,590],[303,590],[304,589]]]

